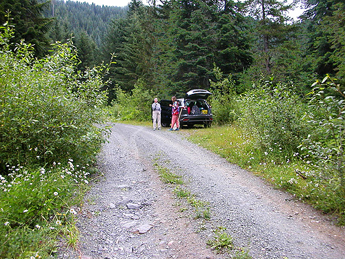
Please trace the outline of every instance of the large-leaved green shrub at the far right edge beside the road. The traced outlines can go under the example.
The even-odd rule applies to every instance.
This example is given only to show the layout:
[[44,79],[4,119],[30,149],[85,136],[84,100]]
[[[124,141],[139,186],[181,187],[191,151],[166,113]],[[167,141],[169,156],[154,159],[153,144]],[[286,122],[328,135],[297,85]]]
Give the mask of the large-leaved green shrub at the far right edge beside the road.
[[[313,113],[306,120],[314,128],[301,145],[308,154],[319,188],[324,193],[319,207],[337,211],[345,218],[345,94],[344,86],[327,75],[316,81],[311,93]],[[333,193],[333,195],[329,195]],[[328,204],[328,207],[325,207]],[[332,204],[330,207],[329,204]]]

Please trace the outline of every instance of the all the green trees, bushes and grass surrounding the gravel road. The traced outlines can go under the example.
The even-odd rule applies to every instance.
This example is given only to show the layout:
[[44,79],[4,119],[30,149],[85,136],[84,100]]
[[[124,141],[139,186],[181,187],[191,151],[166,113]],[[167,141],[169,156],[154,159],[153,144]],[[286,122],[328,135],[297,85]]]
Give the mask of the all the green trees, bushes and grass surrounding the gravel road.
[[193,88],[213,93],[198,144],[344,225],[344,14],[342,0],[1,0],[0,258],[75,246],[103,122],[150,122],[153,97]]

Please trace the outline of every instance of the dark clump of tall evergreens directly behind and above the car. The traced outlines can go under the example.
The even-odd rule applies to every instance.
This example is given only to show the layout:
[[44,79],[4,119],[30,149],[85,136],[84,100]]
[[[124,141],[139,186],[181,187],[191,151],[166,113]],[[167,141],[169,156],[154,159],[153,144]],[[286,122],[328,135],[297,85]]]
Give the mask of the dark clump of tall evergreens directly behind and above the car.
[[159,33],[166,39],[159,41],[164,51],[158,59],[168,60],[157,64],[168,66],[163,69],[172,79],[172,93],[184,95],[191,88],[209,88],[210,79],[215,79],[214,64],[229,74],[251,63],[248,37],[242,33],[243,27],[236,25],[242,16],[233,1],[222,8],[218,1],[170,1],[160,10],[160,28],[166,31]]

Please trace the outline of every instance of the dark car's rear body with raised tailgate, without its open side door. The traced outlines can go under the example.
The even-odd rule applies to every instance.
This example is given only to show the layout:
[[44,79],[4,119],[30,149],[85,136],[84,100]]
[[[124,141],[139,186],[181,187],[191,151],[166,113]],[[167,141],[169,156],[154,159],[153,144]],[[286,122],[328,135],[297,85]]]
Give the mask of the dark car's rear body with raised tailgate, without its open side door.
[[179,124],[181,126],[193,127],[195,124],[202,124],[210,127],[213,122],[211,106],[206,99],[212,95],[208,90],[194,89],[186,93],[186,96],[179,101],[180,113]]

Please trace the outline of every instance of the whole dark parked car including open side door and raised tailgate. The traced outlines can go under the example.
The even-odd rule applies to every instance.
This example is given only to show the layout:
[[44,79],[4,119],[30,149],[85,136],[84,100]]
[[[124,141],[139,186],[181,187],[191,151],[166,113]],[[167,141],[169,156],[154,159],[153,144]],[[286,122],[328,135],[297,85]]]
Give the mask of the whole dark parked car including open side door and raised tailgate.
[[[180,127],[193,127],[195,124],[201,124],[210,127],[213,122],[211,107],[206,102],[208,96],[212,95],[208,90],[194,89],[186,93],[184,98],[179,98]],[[171,124],[171,100],[161,100],[161,126],[168,127]]]

